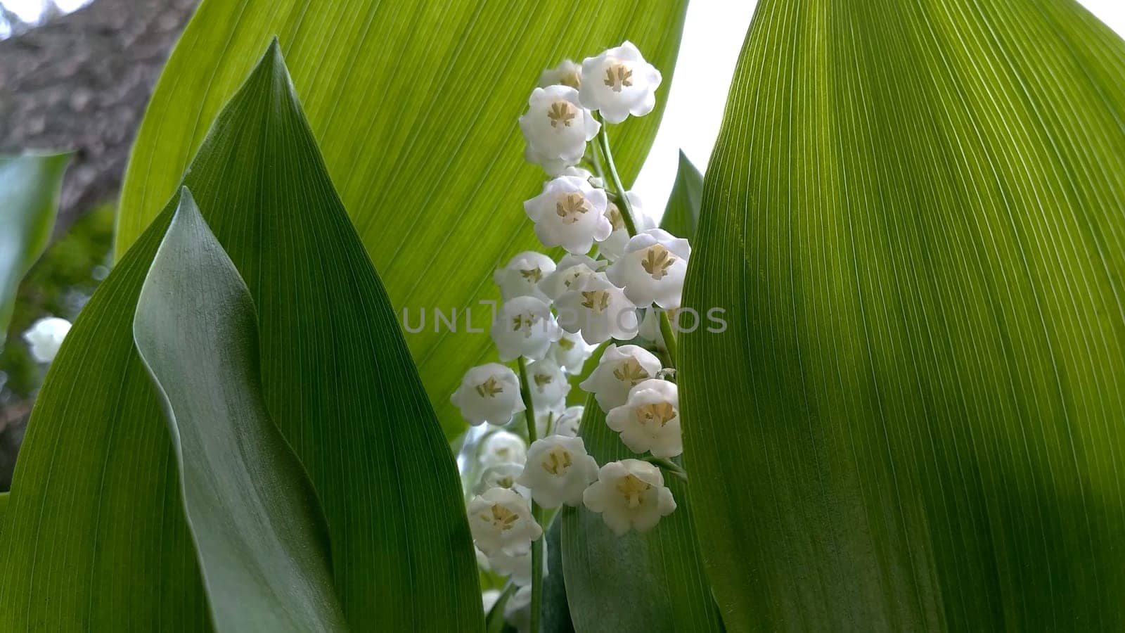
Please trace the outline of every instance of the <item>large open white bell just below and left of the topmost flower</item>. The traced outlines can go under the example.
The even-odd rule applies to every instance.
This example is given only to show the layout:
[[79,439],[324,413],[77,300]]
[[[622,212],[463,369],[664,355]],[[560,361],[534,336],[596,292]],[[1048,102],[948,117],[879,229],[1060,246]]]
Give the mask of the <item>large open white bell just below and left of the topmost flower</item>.
[[541,164],[551,176],[577,164],[586,153],[586,142],[597,135],[602,124],[578,101],[578,91],[569,86],[536,88],[528,99],[528,112],[520,117],[526,148],[523,158]]

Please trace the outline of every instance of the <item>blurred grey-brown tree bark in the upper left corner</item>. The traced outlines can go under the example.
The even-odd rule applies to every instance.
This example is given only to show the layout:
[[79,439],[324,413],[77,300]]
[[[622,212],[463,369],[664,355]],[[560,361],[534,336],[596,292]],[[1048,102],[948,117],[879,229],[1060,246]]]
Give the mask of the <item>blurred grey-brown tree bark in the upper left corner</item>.
[[153,84],[198,0],[97,0],[0,41],[0,153],[73,150],[55,235],[115,197]]

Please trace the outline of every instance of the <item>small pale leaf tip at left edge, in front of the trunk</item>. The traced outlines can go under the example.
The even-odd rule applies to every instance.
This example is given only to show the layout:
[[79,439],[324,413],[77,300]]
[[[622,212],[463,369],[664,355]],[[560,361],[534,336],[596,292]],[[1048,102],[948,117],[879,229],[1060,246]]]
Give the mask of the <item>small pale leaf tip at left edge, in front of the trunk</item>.
[[0,347],[16,289],[47,248],[70,153],[0,157]]

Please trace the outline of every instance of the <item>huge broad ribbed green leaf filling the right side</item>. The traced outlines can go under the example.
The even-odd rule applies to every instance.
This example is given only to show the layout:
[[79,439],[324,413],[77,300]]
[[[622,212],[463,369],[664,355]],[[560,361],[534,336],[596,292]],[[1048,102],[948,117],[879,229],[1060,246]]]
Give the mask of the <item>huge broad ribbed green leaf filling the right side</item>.
[[681,342],[730,630],[1125,627],[1123,75],[1064,0],[758,3]]

